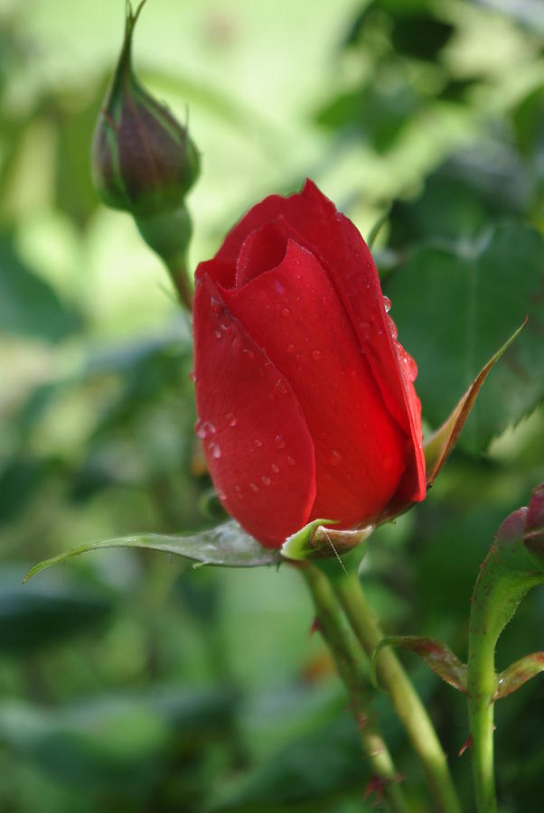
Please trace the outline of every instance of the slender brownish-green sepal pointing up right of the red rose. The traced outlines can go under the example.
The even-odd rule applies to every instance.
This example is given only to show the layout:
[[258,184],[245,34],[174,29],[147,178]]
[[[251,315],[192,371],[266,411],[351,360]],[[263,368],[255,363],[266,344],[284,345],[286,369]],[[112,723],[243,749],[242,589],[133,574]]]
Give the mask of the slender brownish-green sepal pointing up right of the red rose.
[[521,327],[502,345],[500,350],[497,350],[494,356],[492,356],[487,364],[480,370],[476,378],[474,378],[473,383],[464,393],[464,396],[457,406],[455,406],[452,414],[446,418],[444,424],[425,442],[423,449],[425,452],[427,485],[431,485],[435,481],[436,474],[440,471],[444,463],[446,463],[447,457],[457,443],[464,423],[470,415],[476,396],[485,378],[487,378],[488,373],[491,372],[493,365],[501,358],[502,353],[510,347],[512,341],[520,335],[526,323],[527,322],[523,322]]

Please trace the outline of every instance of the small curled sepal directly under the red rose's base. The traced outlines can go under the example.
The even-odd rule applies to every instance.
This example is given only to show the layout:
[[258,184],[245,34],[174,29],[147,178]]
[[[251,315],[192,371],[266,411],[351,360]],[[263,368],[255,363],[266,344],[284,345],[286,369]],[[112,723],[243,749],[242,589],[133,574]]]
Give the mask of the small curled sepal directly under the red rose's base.
[[281,547],[281,555],[295,562],[305,559],[339,558],[361,544],[374,530],[374,526],[353,530],[335,530],[328,526],[336,525],[336,519],[314,519],[308,522],[291,537],[287,537]]

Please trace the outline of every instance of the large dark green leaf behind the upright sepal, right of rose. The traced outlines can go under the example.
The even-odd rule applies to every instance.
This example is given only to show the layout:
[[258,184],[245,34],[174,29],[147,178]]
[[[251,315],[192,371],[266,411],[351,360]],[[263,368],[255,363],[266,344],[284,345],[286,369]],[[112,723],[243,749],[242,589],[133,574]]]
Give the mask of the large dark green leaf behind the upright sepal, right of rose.
[[544,239],[517,224],[497,226],[474,251],[427,246],[389,279],[399,337],[417,360],[424,416],[440,425],[479,369],[523,319],[474,406],[460,445],[473,453],[544,397],[541,288]]

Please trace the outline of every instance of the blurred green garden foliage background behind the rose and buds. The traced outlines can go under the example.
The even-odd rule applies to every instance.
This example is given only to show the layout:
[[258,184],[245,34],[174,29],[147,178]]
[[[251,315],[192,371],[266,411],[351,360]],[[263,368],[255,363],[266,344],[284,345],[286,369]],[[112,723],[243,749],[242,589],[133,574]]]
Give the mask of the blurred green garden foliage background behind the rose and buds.
[[[89,147],[123,0],[0,2],[0,809],[351,813],[369,768],[304,585],[286,566],[193,570],[96,539],[220,519],[194,423],[190,327]],[[544,6],[539,0],[149,0],[136,70],[202,152],[192,266],[306,175],[376,243],[426,426],[530,316],[427,501],[370,540],[388,631],[466,656],[501,520],[542,479]],[[500,641],[543,647],[544,593]],[[472,809],[464,700],[416,659]],[[539,809],[544,681],[497,707],[504,813]],[[432,810],[387,699],[413,811]],[[366,807],[365,807],[366,806]]]

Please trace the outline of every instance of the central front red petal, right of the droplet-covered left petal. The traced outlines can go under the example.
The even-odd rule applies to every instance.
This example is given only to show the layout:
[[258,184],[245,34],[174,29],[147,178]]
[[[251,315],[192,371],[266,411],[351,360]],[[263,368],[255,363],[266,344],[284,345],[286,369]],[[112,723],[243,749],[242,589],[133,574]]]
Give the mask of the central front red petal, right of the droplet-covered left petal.
[[310,519],[341,519],[349,528],[377,516],[404,472],[405,435],[324,268],[290,240],[279,266],[221,294],[305,414],[315,450]]

